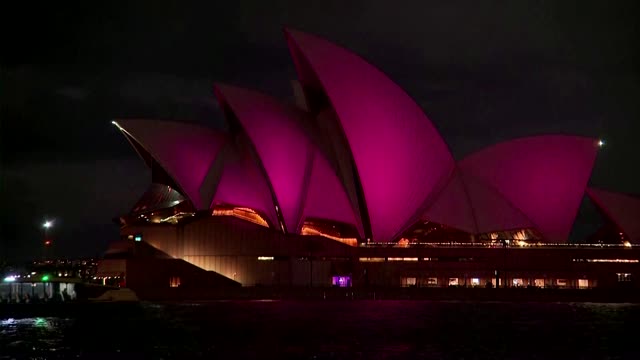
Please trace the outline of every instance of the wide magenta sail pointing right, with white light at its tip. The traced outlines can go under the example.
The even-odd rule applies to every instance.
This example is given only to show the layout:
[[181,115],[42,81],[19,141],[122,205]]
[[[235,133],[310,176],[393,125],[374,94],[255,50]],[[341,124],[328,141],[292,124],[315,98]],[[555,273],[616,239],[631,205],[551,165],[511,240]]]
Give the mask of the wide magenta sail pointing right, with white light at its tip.
[[[533,136],[503,142],[459,163],[520,210],[547,241],[567,241],[596,158],[594,139]],[[488,208],[489,214],[494,208]]]

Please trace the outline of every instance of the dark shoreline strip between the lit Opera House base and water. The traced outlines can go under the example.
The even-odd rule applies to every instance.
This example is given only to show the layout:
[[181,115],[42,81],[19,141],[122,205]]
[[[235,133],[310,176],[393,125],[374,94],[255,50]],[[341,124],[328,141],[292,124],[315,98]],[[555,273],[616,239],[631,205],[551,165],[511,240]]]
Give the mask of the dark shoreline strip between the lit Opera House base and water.
[[602,303],[638,304],[640,292],[622,289],[484,289],[484,288],[236,288],[170,289],[143,292],[140,301],[71,301],[0,304],[0,319],[27,317],[77,317],[119,307],[139,311],[149,303],[207,303],[218,301],[371,302],[424,301],[469,303]]

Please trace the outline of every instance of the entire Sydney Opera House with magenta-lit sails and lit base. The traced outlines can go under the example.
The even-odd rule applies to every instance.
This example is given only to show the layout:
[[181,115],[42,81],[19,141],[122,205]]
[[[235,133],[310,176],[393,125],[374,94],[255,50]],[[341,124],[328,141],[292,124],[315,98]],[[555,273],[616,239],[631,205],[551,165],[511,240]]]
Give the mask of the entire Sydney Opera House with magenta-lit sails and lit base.
[[[152,184],[118,219],[100,276],[166,288],[636,283],[640,198],[589,186],[597,139],[531,136],[457,160],[376,67],[315,35],[285,39],[293,104],[216,84],[223,130],[114,121]],[[569,242],[583,201],[604,225]]]

